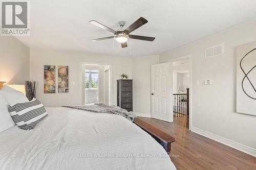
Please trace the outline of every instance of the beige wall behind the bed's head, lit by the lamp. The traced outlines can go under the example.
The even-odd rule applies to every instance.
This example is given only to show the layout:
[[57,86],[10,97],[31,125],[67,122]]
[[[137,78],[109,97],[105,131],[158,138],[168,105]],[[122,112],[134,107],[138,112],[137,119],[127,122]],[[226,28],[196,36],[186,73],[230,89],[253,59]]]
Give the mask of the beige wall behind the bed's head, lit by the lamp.
[[29,47],[13,36],[0,36],[0,81],[25,84],[29,80]]

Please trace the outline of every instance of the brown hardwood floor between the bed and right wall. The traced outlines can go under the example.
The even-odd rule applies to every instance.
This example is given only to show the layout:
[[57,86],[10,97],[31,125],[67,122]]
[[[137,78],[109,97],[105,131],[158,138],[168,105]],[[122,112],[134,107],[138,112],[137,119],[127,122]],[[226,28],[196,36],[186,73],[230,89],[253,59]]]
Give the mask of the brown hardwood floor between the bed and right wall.
[[256,157],[191,132],[177,123],[147,117],[139,118],[176,138],[172,143],[170,158],[178,170],[256,169]]

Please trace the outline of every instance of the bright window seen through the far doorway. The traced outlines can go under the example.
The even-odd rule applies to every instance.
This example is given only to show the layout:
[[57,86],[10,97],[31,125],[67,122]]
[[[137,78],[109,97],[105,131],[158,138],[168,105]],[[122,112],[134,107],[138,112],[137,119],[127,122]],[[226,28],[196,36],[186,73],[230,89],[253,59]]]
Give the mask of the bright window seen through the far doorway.
[[99,70],[86,69],[84,73],[86,89],[98,89],[99,86]]

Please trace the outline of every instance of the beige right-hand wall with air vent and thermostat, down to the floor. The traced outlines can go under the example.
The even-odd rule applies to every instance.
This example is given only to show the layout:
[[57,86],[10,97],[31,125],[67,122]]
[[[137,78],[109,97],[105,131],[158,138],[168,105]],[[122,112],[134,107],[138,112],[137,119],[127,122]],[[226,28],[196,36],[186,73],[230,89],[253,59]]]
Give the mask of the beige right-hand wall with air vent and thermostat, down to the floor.
[[[191,130],[254,156],[256,116],[236,113],[235,101],[236,46],[256,41],[255,30],[256,20],[251,20],[160,55],[161,63],[192,55]],[[205,48],[221,43],[224,55],[204,57]],[[203,85],[204,79],[213,80],[213,84]]]

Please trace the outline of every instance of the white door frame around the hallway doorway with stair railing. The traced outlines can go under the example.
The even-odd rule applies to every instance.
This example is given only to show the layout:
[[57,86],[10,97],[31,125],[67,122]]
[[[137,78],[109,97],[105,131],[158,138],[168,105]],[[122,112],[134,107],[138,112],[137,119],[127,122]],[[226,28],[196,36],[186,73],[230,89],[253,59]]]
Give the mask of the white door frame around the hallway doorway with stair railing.
[[171,59],[171,60],[168,60],[168,62],[175,62],[175,61],[179,61],[179,60],[183,60],[183,59],[187,59],[189,60],[189,69],[188,69],[188,77],[189,77],[189,82],[188,82],[188,86],[189,86],[189,130],[191,130],[191,127],[192,127],[192,86],[191,86],[191,82],[192,82],[192,55],[189,54],[187,56],[183,56],[183,57],[178,57],[178,58],[175,58],[175,59]]

